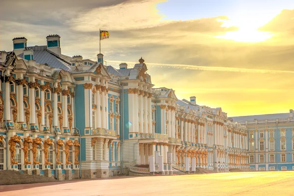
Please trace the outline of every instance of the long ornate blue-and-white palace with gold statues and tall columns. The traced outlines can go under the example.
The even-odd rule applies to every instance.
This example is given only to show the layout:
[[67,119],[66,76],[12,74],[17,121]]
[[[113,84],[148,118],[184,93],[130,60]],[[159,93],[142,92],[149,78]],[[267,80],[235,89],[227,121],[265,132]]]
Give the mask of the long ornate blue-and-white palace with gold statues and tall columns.
[[246,126],[154,88],[142,57],[116,69],[102,54],[62,55],[59,35],[46,39],[28,47],[17,37],[0,52],[1,170],[60,180],[144,174],[152,155],[166,174],[193,158],[199,169],[249,170]]

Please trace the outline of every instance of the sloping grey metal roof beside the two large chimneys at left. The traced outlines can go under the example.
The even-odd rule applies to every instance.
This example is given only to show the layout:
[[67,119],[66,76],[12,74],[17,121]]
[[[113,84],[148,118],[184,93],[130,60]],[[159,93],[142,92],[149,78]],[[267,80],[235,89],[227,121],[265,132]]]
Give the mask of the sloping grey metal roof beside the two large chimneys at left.
[[[32,46],[27,47],[34,51],[33,59],[36,63],[45,64],[47,63],[49,67],[63,69],[65,71],[71,70],[71,63],[57,54],[47,50],[47,46]],[[19,55],[21,58],[24,58],[24,53]]]

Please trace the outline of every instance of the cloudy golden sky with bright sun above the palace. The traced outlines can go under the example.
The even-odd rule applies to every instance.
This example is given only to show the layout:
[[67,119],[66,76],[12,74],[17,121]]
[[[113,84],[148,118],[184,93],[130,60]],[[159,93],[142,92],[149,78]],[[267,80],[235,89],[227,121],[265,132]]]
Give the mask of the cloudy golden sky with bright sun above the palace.
[[294,109],[293,0],[1,0],[0,50],[61,36],[62,54],[107,65],[142,56],[155,87],[228,116]]

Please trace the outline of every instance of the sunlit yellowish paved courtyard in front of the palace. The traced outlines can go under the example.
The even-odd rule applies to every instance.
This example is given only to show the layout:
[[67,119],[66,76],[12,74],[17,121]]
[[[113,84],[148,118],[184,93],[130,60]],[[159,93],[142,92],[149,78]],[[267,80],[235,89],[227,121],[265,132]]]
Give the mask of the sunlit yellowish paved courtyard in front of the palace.
[[294,171],[112,177],[0,186],[0,196],[294,196]]

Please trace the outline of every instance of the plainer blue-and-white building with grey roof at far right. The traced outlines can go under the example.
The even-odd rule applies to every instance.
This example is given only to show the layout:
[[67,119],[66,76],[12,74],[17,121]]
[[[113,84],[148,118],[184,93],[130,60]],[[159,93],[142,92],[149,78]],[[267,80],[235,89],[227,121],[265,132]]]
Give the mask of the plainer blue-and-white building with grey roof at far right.
[[293,114],[232,117],[247,127],[250,171],[294,170]]

